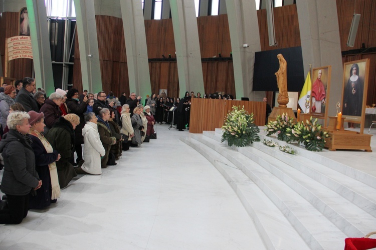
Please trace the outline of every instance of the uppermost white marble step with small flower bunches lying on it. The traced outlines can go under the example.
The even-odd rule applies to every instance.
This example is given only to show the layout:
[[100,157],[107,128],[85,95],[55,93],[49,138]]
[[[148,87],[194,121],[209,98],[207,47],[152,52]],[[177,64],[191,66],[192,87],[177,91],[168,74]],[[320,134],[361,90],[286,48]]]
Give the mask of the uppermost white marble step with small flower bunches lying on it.
[[[221,141],[222,131],[204,131],[204,134],[212,139]],[[356,206],[360,207],[367,213],[371,214],[373,217],[376,217],[376,196],[373,195],[376,191],[376,188],[363,183],[357,179],[349,177],[346,174],[333,170],[331,167],[335,164],[340,164],[339,162],[330,163],[330,167],[318,163],[316,160],[311,160],[302,154],[314,154],[315,158],[324,157],[314,152],[310,152],[305,148],[300,148],[291,143],[286,143],[284,141],[279,141],[276,138],[260,135],[260,138],[263,140],[272,139],[279,144],[287,144],[293,146],[298,150],[296,155],[291,155],[280,151],[278,148],[269,147],[264,145],[261,142],[252,143],[251,146],[255,147],[267,154],[278,158],[279,160],[287,163],[289,166],[292,166],[299,171],[303,172],[310,178],[320,182],[329,189],[337,192],[339,195],[345,199],[351,201]],[[326,157],[324,157],[326,158]],[[321,160],[324,161],[324,160]],[[324,161],[325,162],[325,161]],[[359,172],[356,169],[353,169],[352,172]],[[375,179],[376,182],[376,179]]]

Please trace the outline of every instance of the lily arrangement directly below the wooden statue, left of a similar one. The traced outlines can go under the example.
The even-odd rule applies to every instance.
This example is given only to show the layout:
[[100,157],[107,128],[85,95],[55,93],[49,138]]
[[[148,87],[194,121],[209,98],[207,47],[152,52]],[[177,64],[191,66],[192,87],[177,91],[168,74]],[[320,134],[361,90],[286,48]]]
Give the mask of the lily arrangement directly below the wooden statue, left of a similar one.
[[276,120],[271,120],[267,124],[265,131],[268,133],[267,136],[270,136],[274,133],[277,133],[277,138],[284,141],[293,141],[297,140],[291,133],[291,128],[295,124],[294,117],[289,117],[287,114],[282,114],[277,116]]

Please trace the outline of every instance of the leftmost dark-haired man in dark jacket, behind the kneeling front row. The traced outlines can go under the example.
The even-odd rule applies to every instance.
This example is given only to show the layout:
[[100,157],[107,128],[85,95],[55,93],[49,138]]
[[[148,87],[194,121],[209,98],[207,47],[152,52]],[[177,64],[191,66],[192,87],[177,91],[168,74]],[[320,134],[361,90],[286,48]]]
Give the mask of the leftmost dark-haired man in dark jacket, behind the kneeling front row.
[[35,89],[35,81],[33,78],[25,77],[22,80],[22,88],[17,94],[16,102],[21,103],[26,112],[34,110],[39,112],[39,106],[36,99],[34,99],[33,91]]

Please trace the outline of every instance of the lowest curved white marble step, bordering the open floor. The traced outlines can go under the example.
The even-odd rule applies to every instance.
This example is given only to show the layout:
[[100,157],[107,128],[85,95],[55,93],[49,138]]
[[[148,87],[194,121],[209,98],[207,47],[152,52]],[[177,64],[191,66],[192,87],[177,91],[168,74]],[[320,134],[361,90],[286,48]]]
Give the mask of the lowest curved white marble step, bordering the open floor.
[[204,155],[229,182],[254,220],[266,249],[309,249],[283,213],[238,167],[190,136],[180,140]]

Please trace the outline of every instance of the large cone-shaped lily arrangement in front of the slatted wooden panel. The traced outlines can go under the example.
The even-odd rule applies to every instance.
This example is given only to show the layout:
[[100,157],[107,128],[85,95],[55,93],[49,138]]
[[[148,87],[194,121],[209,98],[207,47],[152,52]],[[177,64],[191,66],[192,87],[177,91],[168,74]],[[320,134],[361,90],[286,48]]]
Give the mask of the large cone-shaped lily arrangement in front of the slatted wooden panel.
[[253,141],[260,141],[257,134],[260,128],[255,125],[253,113],[249,114],[244,106],[233,106],[225,118],[222,126],[223,134],[221,141],[227,140],[229,146],[246,146]]

